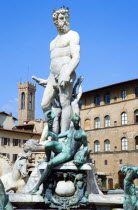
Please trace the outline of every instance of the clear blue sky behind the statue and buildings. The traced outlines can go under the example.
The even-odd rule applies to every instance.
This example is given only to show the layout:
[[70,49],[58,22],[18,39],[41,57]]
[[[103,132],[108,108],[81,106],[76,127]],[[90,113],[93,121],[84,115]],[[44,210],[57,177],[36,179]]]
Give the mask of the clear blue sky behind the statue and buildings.
[[[49,75],[49,43],[57,35],[53,9],[70,8],[81,38],[83,90],[138,78],[137,0],[0,0],[0,111],[17,117],[20,81]],[[36,118],[43,118],[37,85]]]

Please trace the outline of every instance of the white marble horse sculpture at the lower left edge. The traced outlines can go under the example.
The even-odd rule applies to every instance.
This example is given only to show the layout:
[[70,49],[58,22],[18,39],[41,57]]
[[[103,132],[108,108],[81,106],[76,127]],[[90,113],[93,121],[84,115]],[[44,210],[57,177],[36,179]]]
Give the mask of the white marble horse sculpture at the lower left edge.
[[0,178],[6,192],[21,192],[28,175],[27,159],[27,154],[20,153],[15,164],[12,165],[8,158],[0,155]]

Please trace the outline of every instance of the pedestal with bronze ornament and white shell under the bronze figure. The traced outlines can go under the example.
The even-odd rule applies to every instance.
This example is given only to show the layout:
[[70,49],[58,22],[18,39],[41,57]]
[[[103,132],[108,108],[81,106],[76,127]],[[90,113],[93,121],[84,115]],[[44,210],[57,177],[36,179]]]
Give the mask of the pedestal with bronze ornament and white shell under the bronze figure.
[[[23,193],[28,194],[28,197],[31,196],[30,199],[33,199],[33,197],[29,192],[36,186],[46,168],[46,162],[38,164],[29,177]],[[70,161],[54,167],[43,185],[40,186],[39,191],[36,192],[36,195],[43,196],[45,207],[69,210],[85,208],[89,203],[88,195],[91,193],[102,194],[96,183],[93,165],[86,163],[76,166]],[[33,205],[36,206],[37,203],[35,202]]]

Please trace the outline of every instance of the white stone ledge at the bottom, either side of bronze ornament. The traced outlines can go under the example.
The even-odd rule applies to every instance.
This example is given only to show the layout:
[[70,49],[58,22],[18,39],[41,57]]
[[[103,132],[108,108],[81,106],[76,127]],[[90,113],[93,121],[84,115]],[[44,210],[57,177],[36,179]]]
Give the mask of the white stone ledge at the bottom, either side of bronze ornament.
[[[123,209],[124,195],[89,195],[89,202],[81,209],[91,210],[111,210],[113,208]],[[10,202],[18,209],[51,209],[46,206],[44,199],[40,195],[30,194],[10,194]],[[79,208],[77,208],[79,209]]]

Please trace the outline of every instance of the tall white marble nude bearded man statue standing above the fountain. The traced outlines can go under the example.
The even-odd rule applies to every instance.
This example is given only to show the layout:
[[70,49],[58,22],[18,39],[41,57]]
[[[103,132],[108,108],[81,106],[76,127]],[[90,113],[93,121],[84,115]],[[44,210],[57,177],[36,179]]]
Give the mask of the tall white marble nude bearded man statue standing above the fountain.
[[51,109],[59,93],[63,133],[69,129],[72,117],[70,99],[76,78],[75,69],[80,61],[80,38],[77,32],[70,30],[68,9],[54,10],[53,21],[58,35],[50,43],[50,75],[47,80],[40,79],[38,83],[46,86],[41,103],[44,113]]

